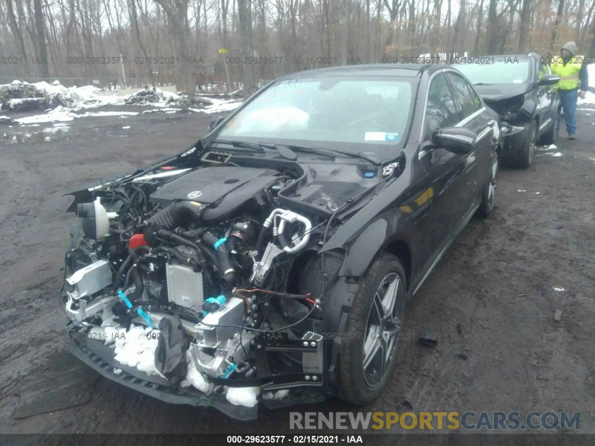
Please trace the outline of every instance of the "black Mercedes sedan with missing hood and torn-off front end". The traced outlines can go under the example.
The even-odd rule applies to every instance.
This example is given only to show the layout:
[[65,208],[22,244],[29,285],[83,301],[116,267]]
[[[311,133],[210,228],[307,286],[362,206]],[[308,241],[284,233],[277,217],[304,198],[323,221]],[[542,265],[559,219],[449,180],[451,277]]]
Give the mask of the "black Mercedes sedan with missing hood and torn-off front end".
[[178,155],[73,193],[68,345],[115,382],[237,419],[368,403],[407,300],[494,209],[501,135],[443,65],[280,78]]

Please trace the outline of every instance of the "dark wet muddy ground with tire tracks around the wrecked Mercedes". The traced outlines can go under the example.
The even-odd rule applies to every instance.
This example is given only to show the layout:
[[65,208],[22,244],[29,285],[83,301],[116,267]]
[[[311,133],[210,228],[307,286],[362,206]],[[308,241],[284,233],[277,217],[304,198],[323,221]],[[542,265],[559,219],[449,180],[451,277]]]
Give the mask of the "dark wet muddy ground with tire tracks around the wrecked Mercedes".
[[[577,141],[538,152],[528,171],[502,169],[496,211],[471,221],[409,303],[400,366],[363,412],[580,411],[581,432],[595,432],[595,116],[588,113],[579,112]],[[192,145],[210,118],[80,118],[47,142],[41,134],[13,143],[16,127],[0,128],[0,432],[289,428],[289,409],[242,423],[171,406],[64,353],[57,291],[75,217],[64,212],[71,197],[63,194]],[[417,344],[422,328],[439,336],[436,348]],[[330,401],[292,410],[357,409]]]

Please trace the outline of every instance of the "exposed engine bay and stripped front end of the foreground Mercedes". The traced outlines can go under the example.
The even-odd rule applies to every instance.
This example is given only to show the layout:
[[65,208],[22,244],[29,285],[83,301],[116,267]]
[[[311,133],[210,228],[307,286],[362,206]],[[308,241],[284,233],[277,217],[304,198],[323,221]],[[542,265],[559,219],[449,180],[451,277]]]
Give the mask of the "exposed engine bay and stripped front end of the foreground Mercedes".
[[[60,296],[70,329],[112,348],[117,364],[227,392],[233,404],[253,406],[260,388],[281,398],[322,385],[318,250],[399,164],[314,171],[228,153],[190,158],[75,200],[82,234]],[[230,396],[246,387],[258,389],[253,401]]]

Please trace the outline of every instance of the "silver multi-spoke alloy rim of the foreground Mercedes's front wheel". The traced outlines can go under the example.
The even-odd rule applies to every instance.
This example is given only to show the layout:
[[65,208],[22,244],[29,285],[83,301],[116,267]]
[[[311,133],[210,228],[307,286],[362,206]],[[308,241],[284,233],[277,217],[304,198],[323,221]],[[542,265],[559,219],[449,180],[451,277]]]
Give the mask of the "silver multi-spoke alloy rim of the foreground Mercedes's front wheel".
[[394,272],[387,274],[374,294],[364,338],[364,379],[377,388],[386,376],[396,353],[405,310],[403,282]]

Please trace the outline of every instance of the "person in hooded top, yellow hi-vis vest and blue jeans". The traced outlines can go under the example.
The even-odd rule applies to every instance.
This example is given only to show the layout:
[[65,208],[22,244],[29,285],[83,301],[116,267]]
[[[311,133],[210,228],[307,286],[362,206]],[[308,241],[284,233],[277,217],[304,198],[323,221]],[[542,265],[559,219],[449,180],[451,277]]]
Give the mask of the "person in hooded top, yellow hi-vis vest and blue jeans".
[[[577,44],[568,42],[562,46],[562,56],[556,57],[550,64],[552,74],[560,76],[556,90],[560,96],[558,109],[558,133],[560,132],[560,112],[564,110],[564,121],[568,139],[577,138],[577,111],[578,96],[585,98],[588,87],[587,58],[577,55]],[[580,92],[580,93],[579,93]]]

